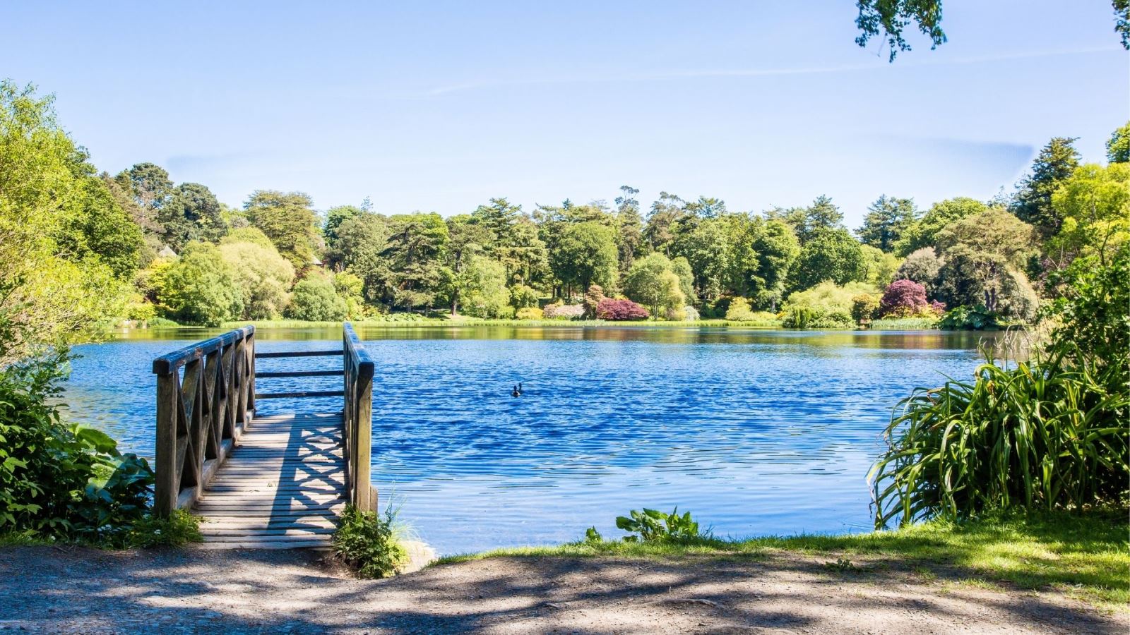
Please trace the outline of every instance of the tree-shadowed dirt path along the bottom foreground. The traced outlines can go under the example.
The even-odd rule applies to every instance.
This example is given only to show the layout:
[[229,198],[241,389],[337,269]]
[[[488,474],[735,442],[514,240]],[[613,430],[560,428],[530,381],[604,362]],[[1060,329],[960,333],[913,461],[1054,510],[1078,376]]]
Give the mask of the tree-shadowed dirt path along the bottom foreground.
[[311,551],[0,548],[0,628],[81,633],[1116,633],[1059,593],[827,558],[501,558],[355,580]]

